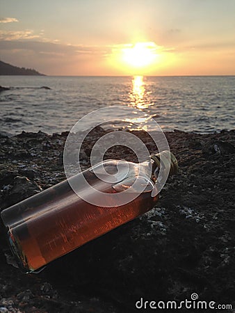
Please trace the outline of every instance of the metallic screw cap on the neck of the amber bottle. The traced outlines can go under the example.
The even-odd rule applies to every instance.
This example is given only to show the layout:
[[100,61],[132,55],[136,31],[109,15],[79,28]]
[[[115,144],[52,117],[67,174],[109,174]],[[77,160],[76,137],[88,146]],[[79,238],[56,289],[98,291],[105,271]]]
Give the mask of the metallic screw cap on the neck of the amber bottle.
[[160,153],[152,154],[151,159],[156,163],[156,166],[160,168],[161,162],[162,165],[166,168],[169,166],[170,162],[170,172],[169,175],[175,175],[178,172],[179,166],[177,159],[174,154],[170,151],[163,151]]

